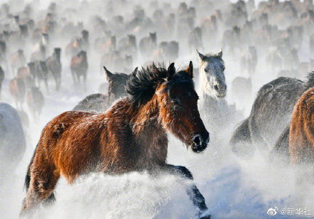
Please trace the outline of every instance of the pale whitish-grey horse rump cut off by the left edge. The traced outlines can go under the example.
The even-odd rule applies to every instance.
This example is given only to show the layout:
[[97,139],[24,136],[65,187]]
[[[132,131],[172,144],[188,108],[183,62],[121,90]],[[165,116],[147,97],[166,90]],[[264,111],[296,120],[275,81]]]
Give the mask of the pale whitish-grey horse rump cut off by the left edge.
[[18,112],[4,102],[0,102],[0,174],[15,171],[24,156],[26,140]]

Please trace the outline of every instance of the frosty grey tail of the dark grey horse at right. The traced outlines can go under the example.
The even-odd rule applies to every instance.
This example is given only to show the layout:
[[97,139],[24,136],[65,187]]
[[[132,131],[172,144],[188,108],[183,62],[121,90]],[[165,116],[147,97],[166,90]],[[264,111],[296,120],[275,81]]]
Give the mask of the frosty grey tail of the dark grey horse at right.
[[[245,119],[233,132],[231,140],[229,141],[233,153],[242,156],[245,155],[244,151],[248,151],[247,146],[252,145],[252,139],[250,136],[249,118]],[[244,146],[245,144],[245,146]],[[248,154],[246,152],[246,154]]]

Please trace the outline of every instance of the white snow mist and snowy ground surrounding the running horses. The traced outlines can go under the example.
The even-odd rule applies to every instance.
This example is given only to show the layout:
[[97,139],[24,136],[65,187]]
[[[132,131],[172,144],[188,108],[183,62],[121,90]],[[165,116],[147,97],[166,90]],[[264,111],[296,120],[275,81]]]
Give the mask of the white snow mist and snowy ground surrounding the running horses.
[[[263,4],[271,4],[271,1],[250,0],[251,4],[247,2],[244,6],[245,16],[245,13],[239,12],[241,2],[1,1],[1,41],[4,39],[4,31],[19,33],[19,24],[25,23],[29,29],[25,38],[16,37],[23,41],[15,40],[14,34],[9,37],[6,41],[6,60],[1,60],[0,63],[4,70],[0,102],[6,102],[25,112],[28,117],[28,122],[22,119],[26,136],[23,158],[16,164],[14,171],[0,177],[0,217],[19,218],[21,203],[26,196],[24,178],[27,167],[46,124],[62,112],[72,110],[87,95],[104,93],[103,87],[105,92],[108,90],[103,65],[112,73],[130,74],[134,68],[140,69],[152,61],[163,62],[167,67],[174,62],[176,69],[182,70],[192,60],[193,80],[200,95],[200,58],[196,49],[203,54],[223,51],[227,85],[224,99],[229,107],[234,108],[237,116],[226,127],[220,125],[219,121],[213,123],[216,124],[215,127],[211,122],[206,122],[211,141],[201,154],[194,154],[169,133],[168,163],[186,166],[193,173],[194,181],[206,200],[212,218],[268,218],[268,209],[275,207],[305,208],[311,213],[308,217],[313,217],[314,181],[311,167],[292,166],[280,159],[270,161],[271,149],[267,153],[256,150],[250,159],[242,159],[231,151],[229,140],[238,124],[250,114],[260,87],[279,76],[306,80],[307,73],[313,70],[311,58],[314,56],[310,50],[310,35],[314,33],[314,22],[307,21],[301,15],[309,13],[308,9],[313,10],[314,6],[310,3],[303,5],[299,1],[293,1],[292,4],[289,1],[288,6],[280,4],[278,8],[268,10]],[[4,5],[8,6],[9,11]],[[195,10],[195,14],[191,8]],[[233,9],[239,11],[234,12]],[[218,11],[221,11],[221,19]],[[263,20],[263,13],[266,12],[267,21]],[[47,27],[49,41],[45,44],[45,59],[53,54],[54,48],[61,48],[61,86],[56,90],[53,75],[48,75],[49,90],[41,82],[39,89],[44,96],[44,106],[39,117],[34,117],[27,100],[25,99],[21,107],[17,107],[16,100],[9,91],[10,80],[16,76],[17,70],[11,68],[10,55],[19,49],[24,50],[27,67],[31,54],[38,51],[43,43],[41,33],[48,13],[51,14],[50,19],[54,21],[54,26],[51,29]],[[175,16],[174,19],[171,14]],[[14,21],[16,15],[19,15],[19,22]],[[216,24],[211,16],[216,18]],[[188,23],[188,18],[191,18],[191,23]],[[206,18],[209,19],[208,23]],[[248,33],[250,28],[245,28],[245,22],[254,19],[256,23],[253,32]],[[32,28],[27,23],[30,20],[34,21]],[[263,29],[267,24],[272,26],[273,36],[268,36],[265,28]],[[234,26],[241,30],[239,41],[232,41],[226,34]],[[296,29],[293,29],[293,41],[290,42],[290,48],[285,48],[287,50],[283,53],[292,54],[291,50],[295,48],[298,60],[294,57],[292,60],[282,58],[283,63],[278,64],[269,57],[279,53],[278,48],[283,45],[286,36],[290,37],[287,30],[292,26],[302,26],[303,31],[298,35]],[[202,45],[198,47],[198,41],[188,41],[196,27],[200,27],[202,31]],[[38,33],[36,28],[39,28]],[[84,48],[88,62],[85,86],[82,79],[81,82],[74,82],[70,66],[71,58],[81,48],[73,53],[70,49],[66,50],[69,43],[81,38],[83,30],[88,31],[88,45]],[[141,52],[140,41],[154,32],[156,48],[151,56],[145,55]],[[136,37],[136,50],[123,46],[121,40],[128,35]],[[112,43],[113,36],[116,43]],[[168,53],[165,52],[166,49],[162,50],[160,45],[163,41],[176,41],[178,50],[169,46]],[[120,55],[112,55],[113,44],[116,44],[113,50],[117,50]],[[249,46],[257,51],[257,63],[252,73],[243,61],[249,54]],[[131,59],[126,58],[127,55],[131,55]],[[233,80],[237,77],[250,80],[251,89],[235,87]],[[201,113],[202,119],[205,116],[206,114]],[[220,132],[218,137],[215,133]],[[280,133],[281,130],[273,132]],[[7,164],[0,162],[0,165],[5,169]],[[163,174],[153,178],[146,172],[132,172],[122,176],[90,173],[79,177],[71,185],[61,177],[56,186],[56,202],[53,205],[41,205],[33,215],[26,215],[26,218],[194,218],[195,213],[184,186],[175,176]],[[296,214],[293,216],[306,217]],[[279,212],[275,215],[278,218],[293,216],[280,215]]]

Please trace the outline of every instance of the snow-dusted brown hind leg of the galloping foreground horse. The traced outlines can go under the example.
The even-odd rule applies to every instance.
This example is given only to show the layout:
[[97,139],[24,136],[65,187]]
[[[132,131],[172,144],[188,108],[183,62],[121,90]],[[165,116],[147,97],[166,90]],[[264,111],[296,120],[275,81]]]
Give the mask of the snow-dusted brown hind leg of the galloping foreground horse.
[[[33,164],[36,164],[34,161]],[[54,188],[60,178],[59,171],[54,166],[44,164],[34,166],[31,170],[31,182],[24,198],[21,214],[29,212],[40,203],[51,203],[55,200]]]

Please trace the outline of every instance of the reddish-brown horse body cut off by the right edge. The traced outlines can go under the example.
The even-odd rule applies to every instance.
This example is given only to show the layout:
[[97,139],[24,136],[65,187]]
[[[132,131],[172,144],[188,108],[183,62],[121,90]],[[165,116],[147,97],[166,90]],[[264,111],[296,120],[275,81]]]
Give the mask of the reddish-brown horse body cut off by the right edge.
[[314,161],[314,87],[295,104],[289,133],[290,163]]

